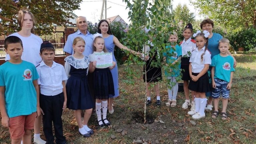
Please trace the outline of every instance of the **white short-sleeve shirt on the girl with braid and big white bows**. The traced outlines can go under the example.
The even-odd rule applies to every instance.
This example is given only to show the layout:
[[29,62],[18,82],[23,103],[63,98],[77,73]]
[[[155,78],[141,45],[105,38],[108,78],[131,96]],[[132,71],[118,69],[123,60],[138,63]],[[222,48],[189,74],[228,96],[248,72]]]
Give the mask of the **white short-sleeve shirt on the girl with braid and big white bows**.
[[205,54],[203,55],[203,60],[201,62],[201,55],[204,53],[205,47],[203,47],[200,51],[196,48],[192,53],[189,62],[191,62],[192,72],[193,73],[200,73],[205,64],[211,64],[211,53],[206,50]]

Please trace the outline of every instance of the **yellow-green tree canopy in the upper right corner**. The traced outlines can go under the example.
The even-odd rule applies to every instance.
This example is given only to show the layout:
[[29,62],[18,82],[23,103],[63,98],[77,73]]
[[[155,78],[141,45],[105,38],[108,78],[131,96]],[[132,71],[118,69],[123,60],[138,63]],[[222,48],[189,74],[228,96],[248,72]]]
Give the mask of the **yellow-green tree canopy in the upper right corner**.
[[256,0],[197,0],[191,3],[201,14],[227,28],[256,28]]

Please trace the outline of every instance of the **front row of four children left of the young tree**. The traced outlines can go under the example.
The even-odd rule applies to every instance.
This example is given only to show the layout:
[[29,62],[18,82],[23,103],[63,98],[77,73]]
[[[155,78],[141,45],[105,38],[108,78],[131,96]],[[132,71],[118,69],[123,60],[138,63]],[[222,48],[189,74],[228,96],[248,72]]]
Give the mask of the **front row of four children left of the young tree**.
[[[65,144],[61,116],[66,107],[74,110],[79,133],[83,137],[92,135],[93,130],[87,126],[94,107],[87,82],[88,71],[94,73],[99,127],[111,125],[106,118],[107,99],[114,96],[110,70],[116,63],[112,62],[113,65],[109,67],[97,67],[95,54],[107,52],[102,35],[96,34],[94,37],[94,53],[89,55],[90,59],[82,54],[85,50],[84,39],[75,38],[73,41],[75,53],[65,58],[65,68],[53,61],[55,49],[48,41],[41,44],[40,56],[43,60],[37,67],[21,59],[23,46],[20,38],[9,36],[4,44],[10,60],[0,66],[0,110],[2,125],[9,127],[13,144],[20,144],[21,140],[24,144],[31,143],[31,130],[34,128],[35,118],[41,114],[41,111],[47,143],[54,143],[53,122],[55,142]],[[83,121],[82,110],[85,110]]]

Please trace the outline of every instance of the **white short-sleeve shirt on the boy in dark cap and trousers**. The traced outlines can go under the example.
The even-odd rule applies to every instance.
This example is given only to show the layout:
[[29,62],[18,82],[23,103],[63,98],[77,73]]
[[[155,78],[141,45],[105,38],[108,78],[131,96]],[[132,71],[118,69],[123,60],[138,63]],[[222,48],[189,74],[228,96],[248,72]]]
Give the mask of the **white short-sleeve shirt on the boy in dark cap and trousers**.
[[62,81],[68,79],[63,65],[53,61],[52,67],[49,67],[42,61],[36,69],[41,94],[54,96],[63,92]]

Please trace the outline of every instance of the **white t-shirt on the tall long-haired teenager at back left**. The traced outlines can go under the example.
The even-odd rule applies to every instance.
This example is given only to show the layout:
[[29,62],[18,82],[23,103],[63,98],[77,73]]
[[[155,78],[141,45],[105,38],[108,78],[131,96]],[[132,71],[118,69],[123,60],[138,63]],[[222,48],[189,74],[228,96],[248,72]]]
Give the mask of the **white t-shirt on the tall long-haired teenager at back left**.
[[[43,40],[39,36],[31,34],[29,37],[23,37],[19,35],[17,32],[9,36],[16,36],[21,39],[23,44],[23,53],[21,56],[22,60],[31,62],[35,66],[38,66],[40,64],[42,58],[39,53]],[[6,54],[5,61],[8,60],[10,60],[10,56]]]

